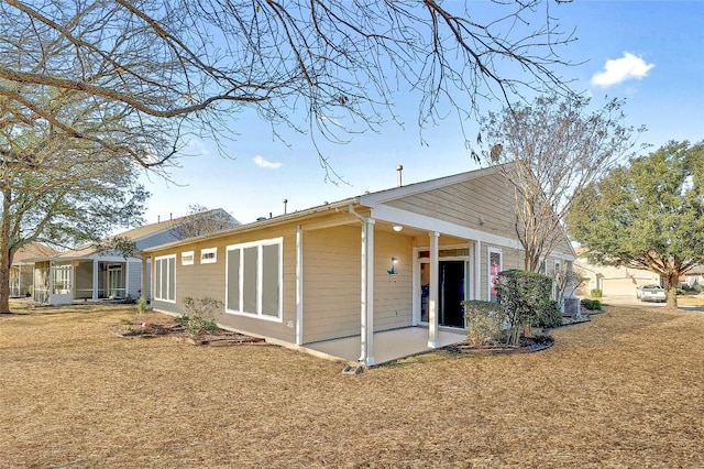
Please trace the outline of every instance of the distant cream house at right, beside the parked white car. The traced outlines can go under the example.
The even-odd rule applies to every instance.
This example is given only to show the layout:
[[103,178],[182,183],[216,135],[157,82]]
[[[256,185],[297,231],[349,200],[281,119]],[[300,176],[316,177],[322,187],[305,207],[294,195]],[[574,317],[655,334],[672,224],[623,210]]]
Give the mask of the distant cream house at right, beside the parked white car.
[[636,296],[638,285],[660,285],[657,273],[609,265],[593,265],[586,260],[584,249],[576,249],[578,259],[574,261],[574,271],[587,279],[578,290],[576,294],[588,297],[592,290],[601,290],[603,296]]

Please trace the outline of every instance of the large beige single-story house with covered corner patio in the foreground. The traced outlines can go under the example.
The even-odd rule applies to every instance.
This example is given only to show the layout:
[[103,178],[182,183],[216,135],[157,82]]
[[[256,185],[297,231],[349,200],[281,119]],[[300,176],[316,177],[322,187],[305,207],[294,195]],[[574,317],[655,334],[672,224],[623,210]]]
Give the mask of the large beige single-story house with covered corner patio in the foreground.
[[[420,326],[436,348],[463,330],[462,301],[495,299],[493,275],[522,266],[512,207],[491,167],[148,248],[152,305],[212,297],[222,327],[294,348],[356,336],[375,364],[376,332]],[[548,263],[574,258],[565,237]]]

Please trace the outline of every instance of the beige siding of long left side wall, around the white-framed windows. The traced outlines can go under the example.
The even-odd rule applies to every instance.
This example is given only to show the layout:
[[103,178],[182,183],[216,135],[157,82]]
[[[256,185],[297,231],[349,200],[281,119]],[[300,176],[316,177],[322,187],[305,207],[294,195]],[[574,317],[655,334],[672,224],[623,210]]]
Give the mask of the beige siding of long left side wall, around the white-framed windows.
[[[256,317],[224,313],[227,247],[264,239],[283,238],[283,307],[282,320],[273,321]],[[200,250],[217,248],[217,262],[200,263]],[[182,252],[194,251],[193,265],[182,265]],[[254,336],[265,336],[286,342],[295,342],[296,321],[296,226],[288,225],[213,238],[153,252],[152,257],[176,254],[176,304],[154,302],[154,307],[169,313],[183,313],[184,298],[212,297],[223,303],[216,320],[228,328]],[[152,272],[152,282],[154,273]]]

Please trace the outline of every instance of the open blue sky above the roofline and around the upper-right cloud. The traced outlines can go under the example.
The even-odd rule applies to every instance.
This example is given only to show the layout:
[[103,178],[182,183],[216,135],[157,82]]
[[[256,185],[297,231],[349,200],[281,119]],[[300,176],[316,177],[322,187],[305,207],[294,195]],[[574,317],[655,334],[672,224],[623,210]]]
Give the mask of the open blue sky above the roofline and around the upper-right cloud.
[[[480,2],[481,4],[481,2]],[[626,98],[627,123],[649,129],[641,141],[660,146],[669,140],[704,139],[704,1],[576,1],[552,7],[562,30],[576,28],[578,41],[562,57],[582,65],[561,70],[573,89],[606,99]],[[169,172],[167,183],[143,177],[152,193],[145,219],[155,222],[186,215],[188,206],[221,207],[242,222],[260,216],[306,209],[396,185],[396,165],[404,183],[415,183],[476,168],[464,145],[457,118],[424,132],[415,126],[417,105],[404,102],[404,128],[355,135],[344,145],[326,145],[324,155],[343,182],[326,181],[307,137],[292,135],[288,145],[275,140],[256,117],[232,122],[240,135],[224,142],[222,157],[208,141],[193,141],[189,156]],[[416,105],[416,106],[414,106]],[[488,105],[492,106],[492,105]],[[497,110],[502,103],[495,102]],[[454,120],[453,120],[454,119]],[[477,133],[465,122],[469,135]]]

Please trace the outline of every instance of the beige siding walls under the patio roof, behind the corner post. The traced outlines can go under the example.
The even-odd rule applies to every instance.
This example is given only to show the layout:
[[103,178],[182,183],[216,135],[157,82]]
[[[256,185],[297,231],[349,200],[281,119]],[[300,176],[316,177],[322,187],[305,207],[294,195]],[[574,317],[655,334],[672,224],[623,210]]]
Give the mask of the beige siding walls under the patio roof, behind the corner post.
[[[304,342],[360,334],[361,239],[360,223],[304,233]],[[375,228],[374,331],[411,325],[411,279],[413,238]]]

